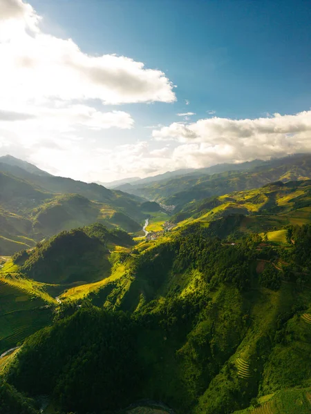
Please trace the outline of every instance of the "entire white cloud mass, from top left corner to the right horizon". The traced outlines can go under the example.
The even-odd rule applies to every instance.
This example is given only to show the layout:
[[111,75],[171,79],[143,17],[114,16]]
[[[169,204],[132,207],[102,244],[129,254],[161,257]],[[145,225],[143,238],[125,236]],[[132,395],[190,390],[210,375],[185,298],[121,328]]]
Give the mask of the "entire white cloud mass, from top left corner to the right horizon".
[[[181,122],[146,126],[153,128],[150,143],[117,145],[109,128],[130,130],[134,121],[104,105],[173,102],[173,84],[164,72],[129,57],[87,55],[73,40],[44,33],[40,24],[28,3],[0,0],[1,154],[54,174],[111,181],[311,151],[311,111],[196,122],[189,121],[194,112],[185,112],[178,114]],[[163,147],[163,141],[172,142]]]

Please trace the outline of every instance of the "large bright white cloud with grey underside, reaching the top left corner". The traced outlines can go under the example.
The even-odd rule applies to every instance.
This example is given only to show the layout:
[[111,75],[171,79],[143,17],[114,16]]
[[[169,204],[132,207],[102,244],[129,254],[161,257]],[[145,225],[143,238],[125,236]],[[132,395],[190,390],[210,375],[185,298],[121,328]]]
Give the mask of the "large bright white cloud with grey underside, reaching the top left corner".
[[160,70],[116,55],[91,56],[71,39],[39,29],[21,0],[0,0],[0,90],[3,101],[100,99],[103,103],[176,100]]

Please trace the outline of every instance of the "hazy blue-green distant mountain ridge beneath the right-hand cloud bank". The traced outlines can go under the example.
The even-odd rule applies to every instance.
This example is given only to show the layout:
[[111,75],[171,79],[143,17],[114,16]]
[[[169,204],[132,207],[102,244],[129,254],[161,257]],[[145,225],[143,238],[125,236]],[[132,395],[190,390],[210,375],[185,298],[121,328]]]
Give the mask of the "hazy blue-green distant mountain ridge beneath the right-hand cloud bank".
[[[241,164],[238,166],[242,168]],[[234,190],[258,188],[271,181],[311,178],[311,155],[309,154],[293,155],[270,161],[254,161],[254,164],[245,164],[245,168],[247,166],[249,169],[236,171],[236,164],[231,164],[231,167],[227,164],[228,168],[234,169],[212,175],[183,175],[147,185],[132,184],[126,187],[126,191],[149,200],[177,206],[176,211],[178,211],[191,201],[223,195]]]

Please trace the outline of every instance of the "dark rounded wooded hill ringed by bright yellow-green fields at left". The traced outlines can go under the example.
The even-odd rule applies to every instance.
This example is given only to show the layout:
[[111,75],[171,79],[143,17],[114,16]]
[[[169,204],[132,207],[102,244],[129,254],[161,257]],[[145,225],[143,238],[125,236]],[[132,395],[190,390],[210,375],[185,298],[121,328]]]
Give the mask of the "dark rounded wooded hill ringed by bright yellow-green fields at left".
[[96,282],[109,275],[109,244],[131,246],[122,230],[107,230],[102,224],[62,231],[36,249],[13,257],[26,277],[48,284]]

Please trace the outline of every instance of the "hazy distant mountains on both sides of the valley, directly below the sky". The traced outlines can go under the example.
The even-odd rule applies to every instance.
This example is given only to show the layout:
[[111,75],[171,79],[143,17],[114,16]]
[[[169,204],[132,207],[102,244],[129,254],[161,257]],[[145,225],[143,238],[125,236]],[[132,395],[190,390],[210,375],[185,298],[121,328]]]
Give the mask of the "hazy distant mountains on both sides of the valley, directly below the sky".
[[271,181],[308,178],[311,156],[294,155],[177,170],[109,190],[99,184],[55,177],[6,155],[0,157],[0,255],[32,248],[61,230],[95,221],[108,228],[118,226],[138,233],[149,217],[149,212],[141,208],[147,199],[173,206],[169,209],[173,213],[185,213],[187,204],[207,197],[258,188]]

